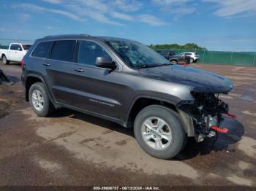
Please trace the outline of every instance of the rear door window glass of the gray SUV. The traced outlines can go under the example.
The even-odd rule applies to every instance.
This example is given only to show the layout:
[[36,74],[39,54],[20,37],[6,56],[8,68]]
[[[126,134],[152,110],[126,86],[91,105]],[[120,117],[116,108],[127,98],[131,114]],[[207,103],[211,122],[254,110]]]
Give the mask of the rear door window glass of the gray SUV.
[[72,62],[74,60],[75,40],[61,40],[53,44],[50,58]]

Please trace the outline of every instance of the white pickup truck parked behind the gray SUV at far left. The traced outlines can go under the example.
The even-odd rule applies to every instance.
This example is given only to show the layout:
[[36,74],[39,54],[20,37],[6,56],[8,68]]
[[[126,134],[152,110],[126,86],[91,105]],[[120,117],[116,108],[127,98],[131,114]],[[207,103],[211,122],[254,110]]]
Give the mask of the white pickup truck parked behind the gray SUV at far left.
[[8,64],[10,61],[21,62],[30,47],[31,44],[11,43],[8,49],[0,49],[2,63]]

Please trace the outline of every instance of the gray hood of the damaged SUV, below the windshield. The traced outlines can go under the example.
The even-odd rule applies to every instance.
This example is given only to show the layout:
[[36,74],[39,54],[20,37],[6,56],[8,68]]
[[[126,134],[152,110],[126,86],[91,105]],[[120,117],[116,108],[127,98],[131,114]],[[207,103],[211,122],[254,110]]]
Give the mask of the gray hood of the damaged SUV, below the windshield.
[[188,85],[197,93],[226,93],[233,89],[233,82],[211,71],[179,65],[140,69],[140,75],[165,82]]

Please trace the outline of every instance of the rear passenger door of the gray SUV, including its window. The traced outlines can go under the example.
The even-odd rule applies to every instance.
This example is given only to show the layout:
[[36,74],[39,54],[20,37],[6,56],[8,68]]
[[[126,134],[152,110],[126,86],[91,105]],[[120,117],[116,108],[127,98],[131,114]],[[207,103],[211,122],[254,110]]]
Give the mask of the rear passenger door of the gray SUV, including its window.
[[50,58],[43,65],[53,99],[61,104],[72,105],[74,98],[76,40],[53,42]]

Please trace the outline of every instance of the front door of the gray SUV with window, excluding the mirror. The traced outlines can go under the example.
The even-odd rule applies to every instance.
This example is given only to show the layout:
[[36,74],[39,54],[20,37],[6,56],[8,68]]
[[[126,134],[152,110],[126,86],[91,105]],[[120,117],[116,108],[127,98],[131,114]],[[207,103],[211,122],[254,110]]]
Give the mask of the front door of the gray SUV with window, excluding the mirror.
[[107,50],[97,42],[81,40],[78,47],[78,63],[75,66],[77,84],[76,106],[107,115],[119,117],[120,111],[120,67],[115,70],[95,66],[96,58],[108,56]]

